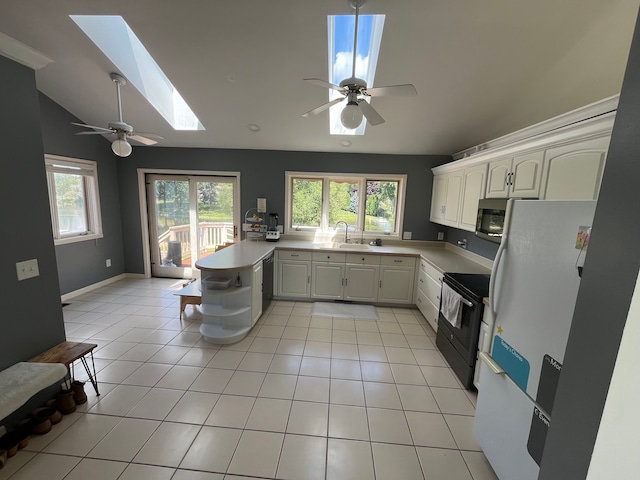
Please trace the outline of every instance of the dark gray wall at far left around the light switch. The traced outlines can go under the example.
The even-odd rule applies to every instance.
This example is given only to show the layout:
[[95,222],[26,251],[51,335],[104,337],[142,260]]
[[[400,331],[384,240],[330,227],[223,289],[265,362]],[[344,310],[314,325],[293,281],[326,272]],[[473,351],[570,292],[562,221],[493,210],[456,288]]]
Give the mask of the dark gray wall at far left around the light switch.
[[[0,369],[64,341],[34,71],[0,56],[2,333]],[[40,276],[18,281],[16,262]]]

